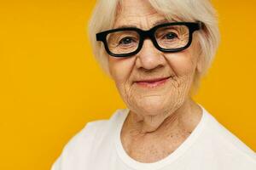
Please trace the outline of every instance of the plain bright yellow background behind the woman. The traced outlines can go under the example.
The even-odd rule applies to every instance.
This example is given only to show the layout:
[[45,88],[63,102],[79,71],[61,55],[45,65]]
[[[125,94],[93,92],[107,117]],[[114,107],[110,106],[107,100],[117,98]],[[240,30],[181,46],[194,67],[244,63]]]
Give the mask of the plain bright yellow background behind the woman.
[[[0,3],[0,169],[49,169],[86,122],[125,105],[93,59],[95,1]],[[195,99],[256,150],[256,1],[213,1],[222,42]]]

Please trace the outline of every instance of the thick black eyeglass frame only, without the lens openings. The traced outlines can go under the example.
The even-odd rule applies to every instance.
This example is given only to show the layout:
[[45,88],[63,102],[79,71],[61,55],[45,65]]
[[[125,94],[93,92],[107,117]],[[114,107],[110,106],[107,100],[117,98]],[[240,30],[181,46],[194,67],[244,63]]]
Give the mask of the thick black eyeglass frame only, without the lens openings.
[[[170,48],[170,49],[161,48],[160,45],[158,44],[157,40],[154,37],[154,33],[159,28],[165,27],[165,26],[187,26],[189,28],[189,42],[187,43],[187,45],[185,45],[182,48]],[[197,30],[200,30],[202,28],[202,26],[203,26],[203,23],[201,21],[198,21],[198,22],[168,22],[168,23],[154,26],[147,31],[144,31],[137,27],[116,28],[116,29],[96,33],[96,41],[103,42],[104,47],[109,55],[111,55],[113,57],[119,57],[119,58],[129,57],[129,56],[137,54],[143,48],[143,42],[146,38],[149,38],[153,42],[154,47],[157,48],[158,50],[160,50],[161,52],[176,53],[176,52],[182,51],[185,48],[189,48],[189,46],[191,45],[192,39],[193,39],[192,38],[193,33]],[[139,38],[140,38],[137,49],[128,54],[113,54],[108,48],[107,36],[109,33],[113,33],[116,31],[137,31],[137,34],[139,35]]]

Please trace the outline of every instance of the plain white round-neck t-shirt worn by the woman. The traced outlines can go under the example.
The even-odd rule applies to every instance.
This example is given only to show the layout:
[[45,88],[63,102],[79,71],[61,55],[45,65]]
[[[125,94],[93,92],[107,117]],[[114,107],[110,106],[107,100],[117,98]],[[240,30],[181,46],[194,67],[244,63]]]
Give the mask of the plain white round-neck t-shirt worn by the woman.
[[160,161],[143,163],[126,154],[120,130],[129,109],[119,109],[109,120],[87,123],[64,147],[52,170],[256,170],[255,152],[201,109],[194,131]]

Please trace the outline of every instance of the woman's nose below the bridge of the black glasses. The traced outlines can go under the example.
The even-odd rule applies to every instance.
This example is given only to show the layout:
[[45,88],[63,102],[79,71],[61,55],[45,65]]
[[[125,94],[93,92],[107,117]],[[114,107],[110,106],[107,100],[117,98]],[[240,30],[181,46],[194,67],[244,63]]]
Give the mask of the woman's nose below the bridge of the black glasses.
[[143,48],[137,54],[136,66],[145,70],[153,70],[154,68],[165,65],[165,59],[151,40],[146,39],[143,42]]

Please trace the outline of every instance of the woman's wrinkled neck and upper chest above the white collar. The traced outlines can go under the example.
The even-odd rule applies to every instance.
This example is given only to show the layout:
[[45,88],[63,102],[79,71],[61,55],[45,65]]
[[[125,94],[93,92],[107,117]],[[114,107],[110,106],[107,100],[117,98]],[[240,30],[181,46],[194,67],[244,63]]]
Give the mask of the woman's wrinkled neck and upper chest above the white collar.
[[147,122],[147,117],[130,112],[122,127],[121,142],[126,153],[133,159],[142,162],[159,161],[189,137],[200,122],[201,113],[200,106],[191,99],[177,111],[168,112],[169,115],[163,121],[160,119],[164,116],[160,116],[154,117],[157,120],[152,118]]

